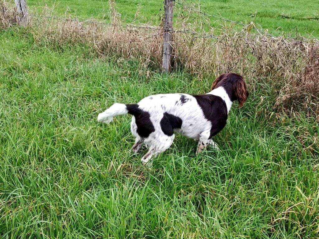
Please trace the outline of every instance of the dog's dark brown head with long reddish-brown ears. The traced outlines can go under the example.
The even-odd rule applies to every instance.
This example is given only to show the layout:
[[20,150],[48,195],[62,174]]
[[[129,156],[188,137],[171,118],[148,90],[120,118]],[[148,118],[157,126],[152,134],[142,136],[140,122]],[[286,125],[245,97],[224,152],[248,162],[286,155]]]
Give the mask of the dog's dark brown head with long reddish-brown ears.
[[249,96],[244,78],[235,73],[226,73],[218,76],[211,85],[211,91],[223,87],[231,101],[238,100],[241,107]]

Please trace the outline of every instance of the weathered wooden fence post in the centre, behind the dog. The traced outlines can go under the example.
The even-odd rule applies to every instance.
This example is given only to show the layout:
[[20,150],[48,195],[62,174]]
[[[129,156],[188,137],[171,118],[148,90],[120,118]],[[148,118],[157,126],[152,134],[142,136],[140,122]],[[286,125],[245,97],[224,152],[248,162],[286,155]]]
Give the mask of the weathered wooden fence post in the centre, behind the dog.
[[173,9],[174,0],[164,0],[164,44],[162,70],[169,72],[171,69],[172,40],[173,40]]

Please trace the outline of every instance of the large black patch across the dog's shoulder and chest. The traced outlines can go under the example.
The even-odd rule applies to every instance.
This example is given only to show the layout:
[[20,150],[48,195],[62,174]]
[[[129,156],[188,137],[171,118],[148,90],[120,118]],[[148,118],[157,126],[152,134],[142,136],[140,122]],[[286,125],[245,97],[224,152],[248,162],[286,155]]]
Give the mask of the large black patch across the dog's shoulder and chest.
[[211,121],[211,137],[218,134],[226,125],[227,106],[225,101],[215,95],[193,95],[197,100],[197,104],[201,107],[204,116]]

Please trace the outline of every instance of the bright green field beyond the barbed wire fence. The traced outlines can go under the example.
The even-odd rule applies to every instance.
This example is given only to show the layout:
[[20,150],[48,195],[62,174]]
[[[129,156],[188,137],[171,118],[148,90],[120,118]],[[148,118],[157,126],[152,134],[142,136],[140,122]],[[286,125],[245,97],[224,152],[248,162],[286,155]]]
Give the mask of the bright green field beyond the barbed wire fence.
[[[196,1],[186,1],[186,4]],[[130,23],[135,18],[137,9],[140,8],[136,23],[160,21],[159,16],[163,16],[162,0],[116,0],[117,11],[121,13],[122,20]],[[213,14],[220,15],[224,18],[234,21],[240,21],[248,24],[254,22],[263,28],[268,29],[272,34],[288,33],[291,36],[303,35],[319,37],[319,1],[312,0],[202,0],[199,2],[201,10]],[[109,5],[108,1],[98,0],[57,0],[57,1],[35,1],[29,0],[29,8],[41,9],[45,4],[49,7],[54,6],[54,10],[58,15],[96,18],[99,20],[109,21]],[[180,7],[176,4],[177,7]],[[40,10],[39,10],[40,11]],[[161,13],[159,15],[159,13]],[[175,17],[176,19],[176,17]],[[211,18],[212,26],[218,26],[220,21]]]

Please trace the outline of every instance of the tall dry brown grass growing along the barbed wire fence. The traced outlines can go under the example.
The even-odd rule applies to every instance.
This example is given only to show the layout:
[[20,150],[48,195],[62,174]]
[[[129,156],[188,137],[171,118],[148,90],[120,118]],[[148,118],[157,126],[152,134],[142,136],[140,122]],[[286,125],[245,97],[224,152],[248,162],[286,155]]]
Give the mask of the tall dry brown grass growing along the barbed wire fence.
[[[144,67],[160,69],[162,26],[121,25],[113,0],[110,0],[110,5],[111,25],[32,18],[32,24],[41,25],[39,29],[33,29],[34,38],[59,45],[85,42],[92,44],[100,56],[138,58]],[[7,12],[0,17],[1,22],[14,22],[11,10],[3,5],[0,5],[1,9]],[[183,17],[177,19],[173,36],[173,69],[185,69],[199,77],[233,71],[245,76],[253,89],[260,87],[255,83],[262,79],[277,94],[274,108],[284,109],[288,114],[302,110],[309,115],[319,115],[318,40],[252,33],[251,25],[241,31],[221,25],[219,29],[211,28],[207,32],[203,30],[207,19],[192,18],[190,24],[190,14],[181,14]]]

